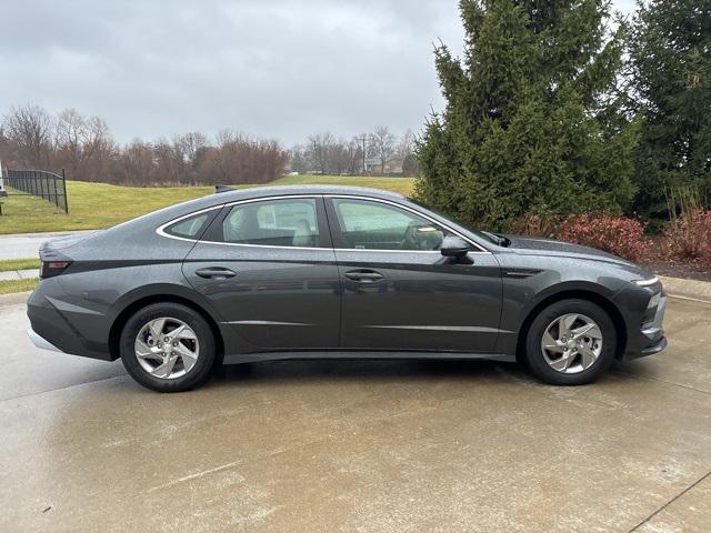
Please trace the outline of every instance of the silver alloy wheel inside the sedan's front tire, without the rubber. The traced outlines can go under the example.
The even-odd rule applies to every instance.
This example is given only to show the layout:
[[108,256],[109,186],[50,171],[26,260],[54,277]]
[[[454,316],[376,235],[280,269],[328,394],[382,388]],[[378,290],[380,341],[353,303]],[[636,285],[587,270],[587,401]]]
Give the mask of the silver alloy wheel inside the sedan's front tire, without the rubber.
[[563,374],[577,374],[592,366],[600,356],[602,332],[584,314],[563,314],[545,328],[541,351],[553,370]]

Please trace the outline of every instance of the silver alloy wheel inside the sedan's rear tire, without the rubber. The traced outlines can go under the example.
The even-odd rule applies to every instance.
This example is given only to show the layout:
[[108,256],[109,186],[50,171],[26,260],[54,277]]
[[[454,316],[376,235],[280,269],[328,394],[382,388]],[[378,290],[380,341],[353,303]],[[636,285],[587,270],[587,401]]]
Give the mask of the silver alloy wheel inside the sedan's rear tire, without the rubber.
[[198,336],[181,320],[160,318],[143,324],[133,346],[141,368],[156,378],[182,378],[196,365],[200,354]]

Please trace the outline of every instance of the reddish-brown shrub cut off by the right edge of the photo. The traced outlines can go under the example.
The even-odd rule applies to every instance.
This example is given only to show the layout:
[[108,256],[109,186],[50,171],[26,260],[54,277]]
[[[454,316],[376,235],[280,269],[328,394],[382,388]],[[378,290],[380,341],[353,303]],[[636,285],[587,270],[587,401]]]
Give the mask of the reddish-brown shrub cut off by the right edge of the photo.
[[694,209],[674,218],[664,229],[664,241],[672,255],[711,261],[711,210]]

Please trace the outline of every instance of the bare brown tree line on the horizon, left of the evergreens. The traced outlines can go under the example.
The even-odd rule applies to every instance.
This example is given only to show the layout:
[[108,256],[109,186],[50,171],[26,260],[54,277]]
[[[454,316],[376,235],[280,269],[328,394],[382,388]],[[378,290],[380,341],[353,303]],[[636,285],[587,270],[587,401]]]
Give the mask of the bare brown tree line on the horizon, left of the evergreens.
[[22,169],[66,169],[72,180],[127,185],[267,183],[284,172],[415,175],[414,134],[388,127],[350,141],[316,133],[287,151],[274,140],[232,130],[213,140],[200,132],[136,139],[120,145],[107,122],[74,109],[52,115],[38,105],[13,107],[0,121],[0,161]]

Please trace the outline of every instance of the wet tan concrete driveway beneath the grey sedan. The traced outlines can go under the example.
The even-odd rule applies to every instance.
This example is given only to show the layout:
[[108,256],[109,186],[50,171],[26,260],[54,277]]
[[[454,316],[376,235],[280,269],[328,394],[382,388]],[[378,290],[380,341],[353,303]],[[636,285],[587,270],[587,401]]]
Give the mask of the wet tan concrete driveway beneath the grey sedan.
[[711,531],[711,304],[594,385],[515,365],[284,362],[146,391],[0,300],[0,531]]

